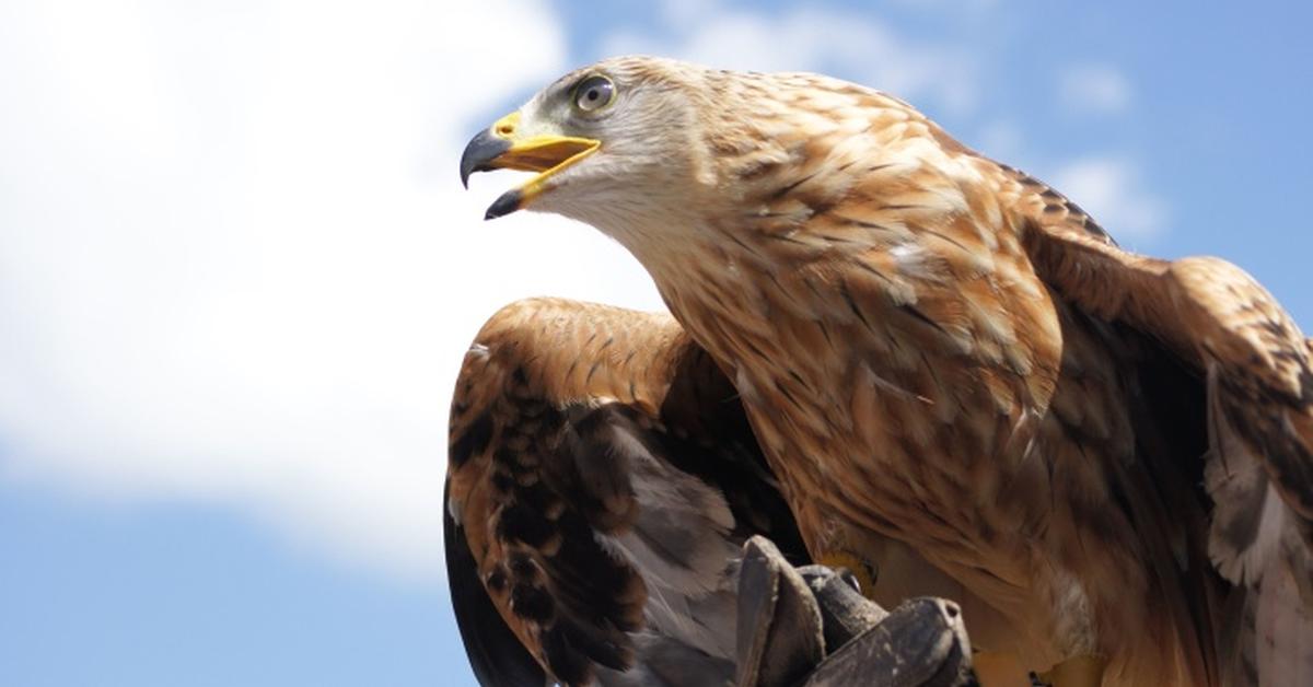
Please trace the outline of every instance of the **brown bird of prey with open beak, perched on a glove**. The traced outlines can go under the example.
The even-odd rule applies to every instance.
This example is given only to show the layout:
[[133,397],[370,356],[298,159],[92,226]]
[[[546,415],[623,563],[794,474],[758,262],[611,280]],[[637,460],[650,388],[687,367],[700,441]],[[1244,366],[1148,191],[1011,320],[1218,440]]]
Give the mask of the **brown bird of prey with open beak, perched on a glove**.
[[[957,600],[986,684],[1313,683],[1313,344],[1239,268],[1128,252],[909,104],[807,74],[608,59],[478,134],[462,177],[491,168],[537,173],[488,218],[595,226],[674,317],[530,302],[466,357],[448,546],[558,678],[706,628],[683,575],[756,512],[708,502],[769,478],[735,457],[681,490],[755,443],[810,556],[881,604]],[[672,347],[750,435],[676,393]]]

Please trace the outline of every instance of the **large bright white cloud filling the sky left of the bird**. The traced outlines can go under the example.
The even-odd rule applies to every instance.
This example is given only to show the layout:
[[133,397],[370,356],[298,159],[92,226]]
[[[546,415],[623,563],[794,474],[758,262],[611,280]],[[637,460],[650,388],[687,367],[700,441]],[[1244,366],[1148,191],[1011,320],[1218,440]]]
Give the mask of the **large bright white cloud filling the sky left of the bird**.
[[563,71],[561,26],[536,0],[109,7],[0,7],[0,476],[439,579],[478,324],[656,305],[592,230],[484,225],[507,179],[460,189],[477,120]]

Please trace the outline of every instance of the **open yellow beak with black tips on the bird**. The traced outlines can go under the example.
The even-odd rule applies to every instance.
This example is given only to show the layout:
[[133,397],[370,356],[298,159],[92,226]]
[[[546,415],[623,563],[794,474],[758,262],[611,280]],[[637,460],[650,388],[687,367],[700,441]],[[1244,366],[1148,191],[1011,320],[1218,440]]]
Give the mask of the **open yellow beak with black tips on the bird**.
[[557,134],[520,135],[520,113],[511,113],[479,131],[461,155],[461,184],[470,185],[470,175],[488,169],[521,169],[538,172],[520,188],[502,194],[488,206],[484,219],[511,214],[529,205],[548,190],[548,181],[566,167],[596,152],[600,141]]

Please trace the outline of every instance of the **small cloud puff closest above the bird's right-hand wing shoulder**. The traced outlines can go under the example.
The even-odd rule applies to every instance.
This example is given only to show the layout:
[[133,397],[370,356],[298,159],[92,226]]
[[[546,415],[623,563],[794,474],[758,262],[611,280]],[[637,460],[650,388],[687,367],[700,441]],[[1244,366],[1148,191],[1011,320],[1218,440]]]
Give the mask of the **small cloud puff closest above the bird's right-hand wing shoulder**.
[[1064,164],[1053,175],[1053,185],[1128,246],[1149,242],[1166,227],[1167,205],[1124,159],[1085,158]]

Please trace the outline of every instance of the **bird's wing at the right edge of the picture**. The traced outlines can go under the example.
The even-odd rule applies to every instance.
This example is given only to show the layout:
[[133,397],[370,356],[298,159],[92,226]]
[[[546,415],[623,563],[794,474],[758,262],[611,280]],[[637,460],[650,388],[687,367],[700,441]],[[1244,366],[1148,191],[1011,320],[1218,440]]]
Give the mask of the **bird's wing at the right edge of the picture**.
[[[1052,193],[1052,192],[1050,192]],[[1053,194],[1056,197],[1056,194]],[[1313,344],[1253,277],[1212,257],[1176,261],[1129,254],[1032,196],[1027,251],[1040,276],[1087,314],[1144,335],[1163,365],[1187,374],[1158,407],[1199,407],[1201,447],[1179,465],[1201,468],[1211,500],[1207,552],[1234,586],[1216,620],[1224,682],[1313,682]],[[1078,211],[1075,214],[1079,214]],[[1162,478],[1162,476],[1159,476]],[[1199,602],[1201,603],[1201,602]]]

